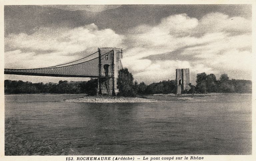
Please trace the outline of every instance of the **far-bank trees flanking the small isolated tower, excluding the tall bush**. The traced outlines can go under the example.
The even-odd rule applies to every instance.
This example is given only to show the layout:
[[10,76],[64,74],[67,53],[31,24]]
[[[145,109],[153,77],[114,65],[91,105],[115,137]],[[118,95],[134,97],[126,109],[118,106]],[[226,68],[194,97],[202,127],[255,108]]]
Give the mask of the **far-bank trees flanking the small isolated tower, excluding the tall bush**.
[[[184,93],[251,93],[252,82],[250,80],[230,80],[227,74],[222,74],[217,80],[214,74],[199,73],[197,74],[196,86],[189,84],[189,90]],[[137,82],[135,82],[137,84]],[[164,80],[158,83],[146,85],[141,82],[135,88],[138,94],[169,94],[175,93],[176,81]]]

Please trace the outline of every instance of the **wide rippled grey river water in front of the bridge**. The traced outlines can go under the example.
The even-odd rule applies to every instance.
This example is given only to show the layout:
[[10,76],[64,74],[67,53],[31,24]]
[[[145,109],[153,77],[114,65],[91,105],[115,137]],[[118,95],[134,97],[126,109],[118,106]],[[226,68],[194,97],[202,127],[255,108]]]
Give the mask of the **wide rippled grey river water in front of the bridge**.
[[5,95],[5,117],[17,117],[35,137],[71,142],[70,155],[252,153],[251,95],[169,103],[62,102],[82,96]]

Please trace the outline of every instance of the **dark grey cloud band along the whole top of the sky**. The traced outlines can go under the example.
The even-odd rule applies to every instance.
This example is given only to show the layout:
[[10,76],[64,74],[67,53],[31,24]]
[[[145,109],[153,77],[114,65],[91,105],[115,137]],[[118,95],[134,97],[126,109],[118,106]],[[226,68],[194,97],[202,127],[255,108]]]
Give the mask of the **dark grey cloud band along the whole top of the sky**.
[[[111,8],[111,7],[110,7]],[[210,12],[221,12],[230,17],[251,19],[251,5],[122,5],[101,12],[62,10],[51,6],[4,6],[5,35],[31,34],[40,27],[79,27],[94,23],[99,29],[110,28],[124,34],[130,28],[147,24],[155,26],[161,19],[186,13],[189,17],[202,18]]]

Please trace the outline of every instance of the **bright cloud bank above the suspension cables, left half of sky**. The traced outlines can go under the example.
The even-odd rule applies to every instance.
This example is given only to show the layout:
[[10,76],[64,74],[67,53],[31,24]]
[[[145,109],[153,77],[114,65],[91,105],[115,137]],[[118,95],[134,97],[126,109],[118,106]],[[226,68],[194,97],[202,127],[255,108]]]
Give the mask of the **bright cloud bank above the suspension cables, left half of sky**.
[[122,40],[113,30],[100,30],[95,24],[74,29],[41,28],[31,35],[9,34],[5,38],[5,66],[57,65],[89,55],[98,47],[120,46]]

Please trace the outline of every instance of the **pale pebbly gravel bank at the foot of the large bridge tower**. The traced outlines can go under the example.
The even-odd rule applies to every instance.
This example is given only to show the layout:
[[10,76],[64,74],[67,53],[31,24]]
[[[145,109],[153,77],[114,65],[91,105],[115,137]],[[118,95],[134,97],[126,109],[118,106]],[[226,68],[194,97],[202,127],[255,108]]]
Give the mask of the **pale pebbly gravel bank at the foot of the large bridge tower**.
[[65,102],[75,103],[159,103],[169,102],[157,99],[138,98],[138,97],[113,97],[113,96],[85,96],[77,99],[67,99]]

